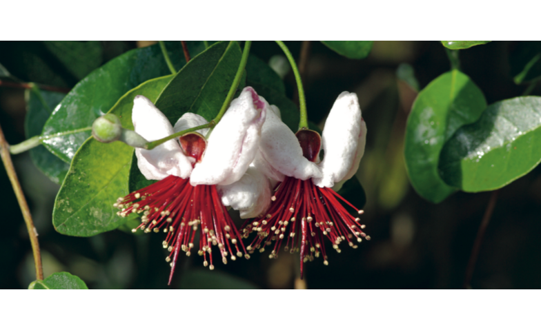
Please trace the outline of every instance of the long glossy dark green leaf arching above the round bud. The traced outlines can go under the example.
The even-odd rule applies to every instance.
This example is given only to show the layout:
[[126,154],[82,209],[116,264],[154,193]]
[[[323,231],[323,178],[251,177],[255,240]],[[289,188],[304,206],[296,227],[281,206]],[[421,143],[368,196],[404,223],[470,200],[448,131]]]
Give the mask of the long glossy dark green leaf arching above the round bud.
[[[167,43],[167,46],[175,68],[181,68],[186,62],[180,43]],[[159,45],[126,52],[77,83],[50,116],[43,134],[90,127],[95,118],[108,112],[126,92],[148,79],[167,74],[170,70]],[[50,152],[69,163],[89,136],[90,131],[81,132],[50,138],[43,143]]]

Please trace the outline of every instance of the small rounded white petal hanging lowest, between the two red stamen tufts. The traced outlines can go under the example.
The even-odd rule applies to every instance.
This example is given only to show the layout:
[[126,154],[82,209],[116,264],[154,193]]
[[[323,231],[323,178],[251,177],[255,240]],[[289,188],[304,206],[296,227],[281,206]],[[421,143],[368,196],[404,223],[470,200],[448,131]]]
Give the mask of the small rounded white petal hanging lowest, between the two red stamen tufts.
[[254,166],[248,167],[239,181],[217,186],[222,203],[240,211],[240,217],[255,218],[271,205],[271,185],[268,178]]

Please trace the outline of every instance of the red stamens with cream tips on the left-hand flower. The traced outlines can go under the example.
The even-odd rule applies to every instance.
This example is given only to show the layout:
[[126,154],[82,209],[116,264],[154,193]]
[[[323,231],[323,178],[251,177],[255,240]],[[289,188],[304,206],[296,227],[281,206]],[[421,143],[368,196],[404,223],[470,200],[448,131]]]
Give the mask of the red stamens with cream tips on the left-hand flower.
[[229,255],[231,260],[243,255],[246,259],[250,258],[246,254],[233,220],[218,196],[215,185],[193,187],[189,179],[168,176],[124,198],[119,198],[113,206],[121,209],[118,212],[120,216],[127,216],[130,213],[143,214],[141,225],[132,231],[141,229],[149,233],[163,230],[167,233],[163,246],[170,252],[166,258],[171,266],[169,284],[173,279],[179,251],[182,250],[186,252],[186,256],[190,256],[190,251],[194,247],[195,231],[199,226],[201,233],[197,254],[204,256],[205,267],[210,264],[209,268],[214,269],[210,253],[213,245],[217,245],[224,263],[227,263],[226,257]]

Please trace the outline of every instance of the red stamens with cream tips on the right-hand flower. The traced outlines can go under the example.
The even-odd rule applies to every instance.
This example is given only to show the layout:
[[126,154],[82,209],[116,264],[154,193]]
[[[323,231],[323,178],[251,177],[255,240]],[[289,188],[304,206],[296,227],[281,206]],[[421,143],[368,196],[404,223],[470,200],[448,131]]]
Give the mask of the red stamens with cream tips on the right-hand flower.
[[[257,236],[246,248],[252,254],[255,249],[264,251],[265,245],[273,245],[269,258],[277,258],[282,241],[287,236],[285,251],[300,252],[301,278],[303,263],[312,261],[322,255],[324,265],[328,265],[324,247],[324,236],[333,243],[333,248],[340,253],[338,245],[347,241],[348,245],[357,248],[362,238],[370,240],[361,229],[364,225],[358,222],[360,218],[351,216],[338,201],[343,200],[348,206],[357,209],[331,188],[320,188],[309,179],[302,181],[286,176],[279,185],[277,192],[271,198],[271,208],[266,216],[247,220],[242,226],[244,237],[255,231]],[[297,247],[300,240],[300,248]]]

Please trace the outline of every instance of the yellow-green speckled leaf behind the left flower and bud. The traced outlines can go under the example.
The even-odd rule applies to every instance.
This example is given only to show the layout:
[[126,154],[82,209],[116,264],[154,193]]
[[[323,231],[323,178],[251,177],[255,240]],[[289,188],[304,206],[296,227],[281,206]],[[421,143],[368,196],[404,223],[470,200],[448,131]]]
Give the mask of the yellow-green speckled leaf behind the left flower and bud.
[[[119,99],[110,110],[130,130],[133,99],[144,95],[155,101],[173,75],[146,81]],[[55,200],[52,224],[61,234],[92,236],[117,228],[126,218],[112,207],[128,194],[133,148],[121,142],[100,143],[88,138],[75,154],[70,171]]]

